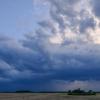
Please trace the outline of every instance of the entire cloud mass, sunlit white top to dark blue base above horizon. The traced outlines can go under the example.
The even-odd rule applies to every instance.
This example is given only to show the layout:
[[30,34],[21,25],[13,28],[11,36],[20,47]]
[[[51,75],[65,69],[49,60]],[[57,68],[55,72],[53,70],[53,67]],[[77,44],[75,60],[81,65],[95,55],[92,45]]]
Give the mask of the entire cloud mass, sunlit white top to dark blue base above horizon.
[[13,87],[29,85],[33,90],[98,86],[100,29],[92,5],[87,0],[43,3],[50,12],[37,21],[33,33],[20,41],[0,36],[0,80],[11,80]]

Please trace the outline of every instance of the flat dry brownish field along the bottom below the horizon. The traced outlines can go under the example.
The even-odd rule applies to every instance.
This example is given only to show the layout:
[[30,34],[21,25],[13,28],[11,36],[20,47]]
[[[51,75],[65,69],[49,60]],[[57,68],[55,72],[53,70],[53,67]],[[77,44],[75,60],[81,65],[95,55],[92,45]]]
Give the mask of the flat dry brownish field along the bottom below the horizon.
[[100,95],[68,96],[65,93],[0,93],[0,100],[100,100]]

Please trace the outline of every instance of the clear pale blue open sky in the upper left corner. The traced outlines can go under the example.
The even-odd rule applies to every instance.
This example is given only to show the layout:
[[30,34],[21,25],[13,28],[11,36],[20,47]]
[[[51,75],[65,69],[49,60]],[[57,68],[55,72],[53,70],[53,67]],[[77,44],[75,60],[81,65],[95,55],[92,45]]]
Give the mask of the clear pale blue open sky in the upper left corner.
[[17,39],[33,31],[32,0],[0,0],[0,34]]

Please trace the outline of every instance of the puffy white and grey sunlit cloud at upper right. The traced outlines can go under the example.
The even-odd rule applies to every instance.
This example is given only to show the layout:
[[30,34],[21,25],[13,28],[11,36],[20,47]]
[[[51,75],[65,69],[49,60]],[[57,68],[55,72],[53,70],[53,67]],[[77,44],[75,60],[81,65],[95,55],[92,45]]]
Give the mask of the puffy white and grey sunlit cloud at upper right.
[[[44,2],[47,1],[44,0]],[[99,21],[92,12],[92,5],[89,0],[77,0],[75,2],[73,0],[48,0],[48,2],[50,3],[50,7],[48,7],[49,21],[47,19],[39,22],[41,27],[39,33],[49,34],[49,36],[51,34],[53,38],[51,40],[54,43],[96,43],[93,38],[97,37],[96,30],[99,27]]]

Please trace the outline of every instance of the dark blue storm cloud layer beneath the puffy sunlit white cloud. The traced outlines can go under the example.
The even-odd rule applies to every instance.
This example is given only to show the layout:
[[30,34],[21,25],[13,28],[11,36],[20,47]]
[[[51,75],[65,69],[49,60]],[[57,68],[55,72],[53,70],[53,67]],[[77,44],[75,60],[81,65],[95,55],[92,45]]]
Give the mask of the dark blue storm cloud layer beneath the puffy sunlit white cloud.
[[[53,90],[52,82],[55,83],[56,80],[84,81],[100,79],[100,62],[95,60],[94,51],[90,53],[90,55],[94,54],[94,57],[92,55],[88,56],[89,54],[87,55],[87,53],[83,52],[84,49],[82,49],[83,51],[80,50],[82,54],[84,53],[83,55],[77,50],[76,52],[79,54],[74,55],[64,52],[66,48],[63,47],[63,50],[56,51],[52,55],[45,50],[46,48],[43,48],[43,40],[40,42],[38,39],[40,38],[36,36],[28,36],[21,42],[15,42],[12,39],[2,39],[0,42],[1,85],[6,81],[8,84],[7,88],[12,85],[13,90],[16,89],[15,87],[20,89],[26,87],[26,89],[38,91]],[[48,86],[51,86],[51,88],[48,88]]]

